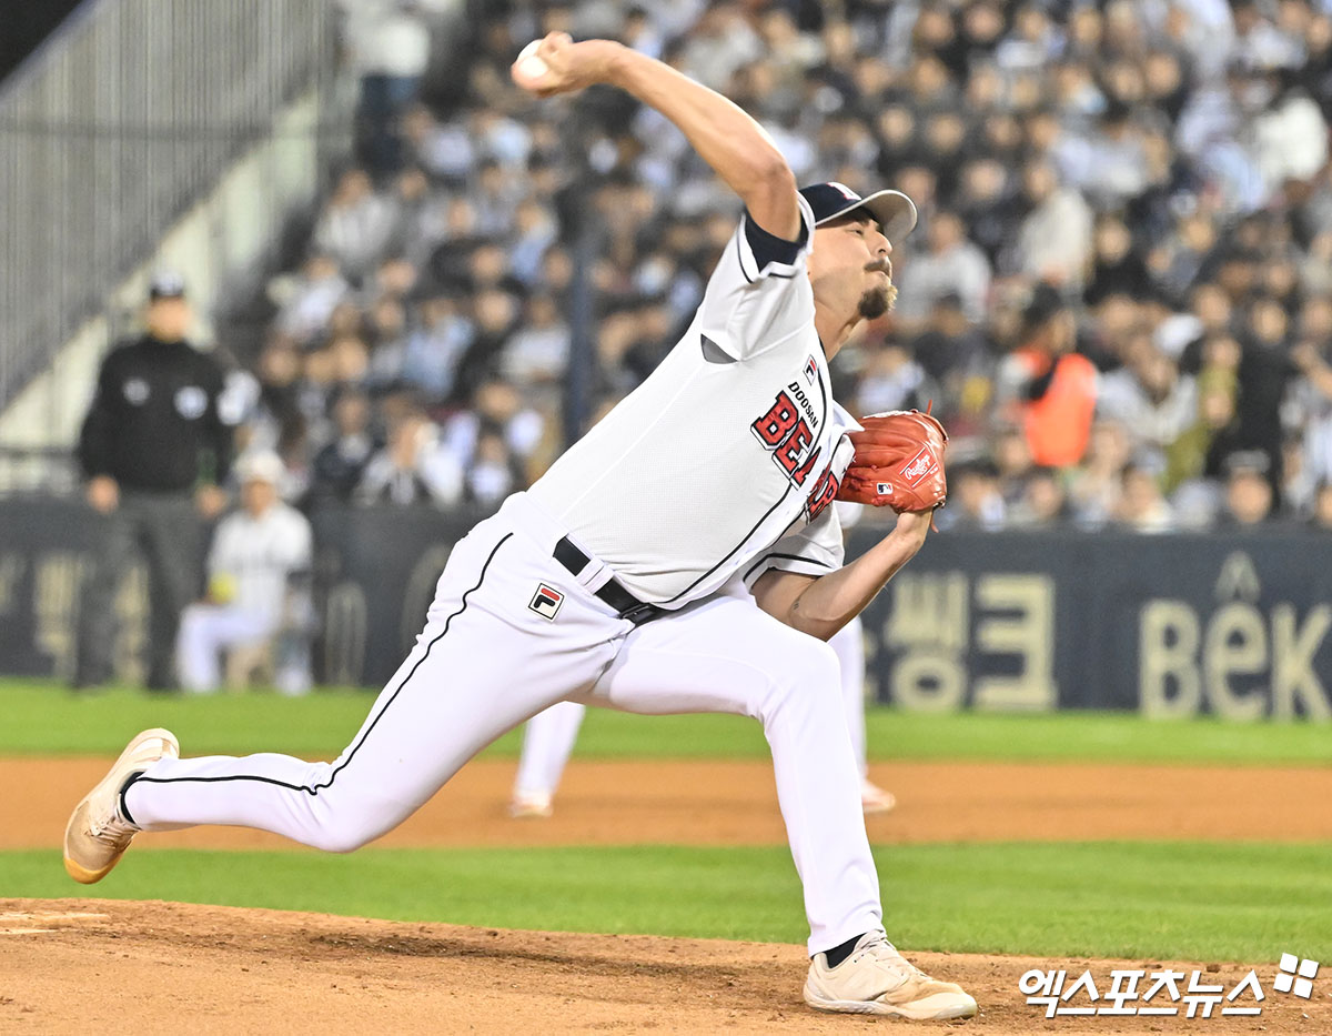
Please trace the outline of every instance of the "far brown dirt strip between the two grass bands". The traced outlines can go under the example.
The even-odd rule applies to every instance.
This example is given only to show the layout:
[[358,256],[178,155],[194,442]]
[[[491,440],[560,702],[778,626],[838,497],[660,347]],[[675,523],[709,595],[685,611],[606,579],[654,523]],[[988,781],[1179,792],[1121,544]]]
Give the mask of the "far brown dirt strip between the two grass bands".
[[[105,772],[96,759],[0,759],[0,850],[59,846],[73,803]],[[1332,839],[1332,767],[1183,767],[892,763],[872,776],[898,808],[868,819],[883,844],[1010,839]],[[476,760],[381,846],[786,840],[766,762],[575,762],[555,816],[505,816],[513,763]],[[273,835],[198,828],[140,839],[144,848],[290,847]],[[140,851],[136,848],[136,852]]]

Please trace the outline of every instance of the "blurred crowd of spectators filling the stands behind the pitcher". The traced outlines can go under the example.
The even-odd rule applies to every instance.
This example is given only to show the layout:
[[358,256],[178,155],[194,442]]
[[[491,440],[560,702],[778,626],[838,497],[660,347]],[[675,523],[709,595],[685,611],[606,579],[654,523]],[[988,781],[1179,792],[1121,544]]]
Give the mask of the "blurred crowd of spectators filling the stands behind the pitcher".
[[563,445],[579,256],[591,419],[689,321],[735,202],[623,95],[513,87],[563,29],[734,99],[801,182],[916,201],[896,310],[835,376],[852,413],[932,401],[942,526],[1332,527],[1332,4],[345,5],[358,164],[233,380],[289,499],[527,485]]

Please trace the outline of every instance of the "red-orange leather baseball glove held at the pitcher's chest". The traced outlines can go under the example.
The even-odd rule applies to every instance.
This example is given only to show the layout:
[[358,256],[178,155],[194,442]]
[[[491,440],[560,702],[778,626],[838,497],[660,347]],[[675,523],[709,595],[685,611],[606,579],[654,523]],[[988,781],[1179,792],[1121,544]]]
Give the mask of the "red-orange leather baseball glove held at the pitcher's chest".
[[932,511],[948,495],[943,451],[948,433],[930,414],[891,410],[862,417],[850,434],[855,457],[836,498],[898,511]]

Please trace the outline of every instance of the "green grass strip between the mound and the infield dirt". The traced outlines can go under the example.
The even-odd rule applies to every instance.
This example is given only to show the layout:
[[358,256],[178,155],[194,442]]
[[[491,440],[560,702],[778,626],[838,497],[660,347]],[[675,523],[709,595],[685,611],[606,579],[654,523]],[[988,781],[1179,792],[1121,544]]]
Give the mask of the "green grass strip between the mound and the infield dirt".
[[[1011,843],[878,847],[886,925],[954,952],[1332,957],[1328,846]],[[73,896],[59,854],[0,854],[0,890]],[[135,852],[95,891],[397,920],[799,943],[785,848]]]

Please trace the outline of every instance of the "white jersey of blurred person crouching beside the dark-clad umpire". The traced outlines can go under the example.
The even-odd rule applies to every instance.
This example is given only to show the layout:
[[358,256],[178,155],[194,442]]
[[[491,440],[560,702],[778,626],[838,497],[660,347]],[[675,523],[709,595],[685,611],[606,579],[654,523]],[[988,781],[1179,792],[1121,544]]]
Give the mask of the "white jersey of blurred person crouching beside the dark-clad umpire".
[[217,523],[208,554],[210,575],[236,578],[232,605],[262,615],[276,625],[286,599],[286,581],[293,571],[310,566],[310,523],[285,503],[274,503],[258,518],[234,511]]

